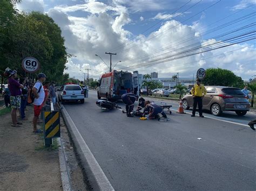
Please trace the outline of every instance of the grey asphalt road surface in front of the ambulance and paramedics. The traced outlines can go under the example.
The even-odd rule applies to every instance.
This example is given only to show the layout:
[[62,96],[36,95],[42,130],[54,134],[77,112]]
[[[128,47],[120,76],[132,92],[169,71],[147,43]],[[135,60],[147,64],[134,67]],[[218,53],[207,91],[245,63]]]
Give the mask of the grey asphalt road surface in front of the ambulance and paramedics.
[[255,190],[255,131],[245,126],[255,114],[215,119],[173,111],[161,123],[102,110],[96,100],[90,91],[84,104],[64,107],[114,189]]

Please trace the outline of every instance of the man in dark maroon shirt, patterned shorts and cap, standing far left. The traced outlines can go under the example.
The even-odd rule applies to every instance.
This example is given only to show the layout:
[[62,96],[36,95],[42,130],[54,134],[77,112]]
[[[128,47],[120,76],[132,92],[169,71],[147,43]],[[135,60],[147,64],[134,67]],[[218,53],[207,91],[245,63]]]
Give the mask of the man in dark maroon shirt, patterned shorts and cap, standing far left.
[[22,84],[19,84],[15,79],[17,77],[16,70],[5,71],[8,74],[8,88],[10,90],[10,102],[11,102],[11,126],[19,127],[21,122],[17,121],[17,109],[21,108],[21,88],[24,88]]

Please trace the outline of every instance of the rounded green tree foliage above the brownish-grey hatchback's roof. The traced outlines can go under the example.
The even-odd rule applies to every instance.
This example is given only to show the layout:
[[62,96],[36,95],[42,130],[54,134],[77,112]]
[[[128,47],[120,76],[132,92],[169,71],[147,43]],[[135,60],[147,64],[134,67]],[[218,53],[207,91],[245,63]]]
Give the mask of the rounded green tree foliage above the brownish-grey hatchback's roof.
[[206,86],[230,86],[242,88],[244,81],[232,71],[221,68],[206,69],[206,77],[203,80]]

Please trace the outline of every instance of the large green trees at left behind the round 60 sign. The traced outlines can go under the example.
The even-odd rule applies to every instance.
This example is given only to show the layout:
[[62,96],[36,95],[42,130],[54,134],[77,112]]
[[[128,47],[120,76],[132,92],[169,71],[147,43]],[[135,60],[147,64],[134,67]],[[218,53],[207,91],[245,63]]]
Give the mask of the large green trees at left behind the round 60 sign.
[[33,56],[41,64],[37,73],[43,72],[48,81],[61,83],[68,78],[63,75],[68,54],[61,30],[53,19],[43,13],[18,13],[10,1],[0,1],[0,73],[6,67],[25,74],[22,60]]

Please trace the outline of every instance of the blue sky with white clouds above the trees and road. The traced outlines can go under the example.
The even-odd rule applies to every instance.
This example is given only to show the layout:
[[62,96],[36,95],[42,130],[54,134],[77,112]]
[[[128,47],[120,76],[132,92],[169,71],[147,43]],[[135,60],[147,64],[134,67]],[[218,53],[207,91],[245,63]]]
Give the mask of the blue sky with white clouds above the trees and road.
[[[236,31],[241,27],[255,31],[256,0],[22,0],[16,7],[53,18],[73,55],[65,73],[80,80],[85,69],[95,79],[109,71],[105,52],[117,54],[114,69],[158,72],[158,77],[192,78],[199,68],[211,67],[232,70],[244,80],[256,77],[255,39],[185,58],[174,55],[212,43],[230,45],[223,40],[246,32]],[[223,36],[231,31],[237,33]],[[159,61],[165,56],[171,60]]]

